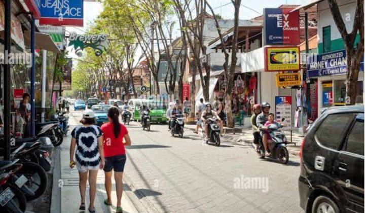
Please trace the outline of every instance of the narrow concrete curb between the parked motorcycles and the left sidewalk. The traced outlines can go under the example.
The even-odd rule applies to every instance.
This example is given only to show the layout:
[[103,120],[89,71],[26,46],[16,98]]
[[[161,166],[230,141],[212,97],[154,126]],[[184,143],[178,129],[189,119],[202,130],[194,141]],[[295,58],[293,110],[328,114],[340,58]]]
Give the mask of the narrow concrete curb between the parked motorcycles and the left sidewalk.
[[58,180],[61,179],[61,148],[55,147],[53,153],[52,196],[50,212],[61,213],[61,187]]

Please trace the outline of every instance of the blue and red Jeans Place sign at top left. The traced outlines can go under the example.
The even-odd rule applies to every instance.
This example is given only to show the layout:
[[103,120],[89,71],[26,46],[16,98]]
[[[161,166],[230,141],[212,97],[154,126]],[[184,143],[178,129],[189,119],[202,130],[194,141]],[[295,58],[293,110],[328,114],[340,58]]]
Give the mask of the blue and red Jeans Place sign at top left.
[[83,0],[42,0],[40,24],[83,26]]

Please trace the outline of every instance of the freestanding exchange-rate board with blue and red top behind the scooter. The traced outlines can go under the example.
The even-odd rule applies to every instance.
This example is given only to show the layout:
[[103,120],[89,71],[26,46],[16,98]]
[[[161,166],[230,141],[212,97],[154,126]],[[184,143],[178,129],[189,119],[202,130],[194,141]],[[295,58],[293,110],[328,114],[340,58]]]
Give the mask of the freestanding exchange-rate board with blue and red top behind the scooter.
[[[276,122],[281,123],[283,129],[291,129],[291,96],[275,97]],[[285,118],[284,121],[281,121]]]

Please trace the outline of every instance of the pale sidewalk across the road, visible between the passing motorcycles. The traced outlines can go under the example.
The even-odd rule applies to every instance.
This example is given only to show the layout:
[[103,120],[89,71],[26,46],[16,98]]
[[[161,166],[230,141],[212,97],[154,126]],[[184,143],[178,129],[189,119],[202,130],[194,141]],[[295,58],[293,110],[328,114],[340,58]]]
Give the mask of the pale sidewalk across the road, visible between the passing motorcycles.
[[[192,124],[186,124],[185,128],[190,129],[192,131],[195,130],[196,125]],[[253,141],[253,135],[252,135],[252,129],[251,128],[224,128],[226,130],[225,138],[229,138],[229,141],[231,143],[246,143],[246,144],[252,144]],[[299,156],[300,152],[300,145],[302,144],[303,136],[301,136],[298,132],[294,131],[292,132],[292,135],[290,137],[289,131],[284,131],[286,135],[286,139],[288,142],[292,141],[295,144],[288,144],[287,149],[288,152],[292,155]]]

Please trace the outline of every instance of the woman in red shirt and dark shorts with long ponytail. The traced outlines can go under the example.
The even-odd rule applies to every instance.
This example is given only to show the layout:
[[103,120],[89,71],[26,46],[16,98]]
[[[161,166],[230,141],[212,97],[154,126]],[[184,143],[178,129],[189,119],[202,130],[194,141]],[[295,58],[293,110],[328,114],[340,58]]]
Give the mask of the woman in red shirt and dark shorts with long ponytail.
[[[127,128],[119,123],[119,109],[111,107],[108,110],[109,122],[101,126],[104,134],[104,172],[105,172],[105,190],[107,199],[104,200],[106,205],[112,205],[112,171],[117,188],[117,212],[122,212],[121,199],[123,193],[123,171],[126,162],[125,146],[131,145]],[[123,141],[124,138],[124,141]]]

